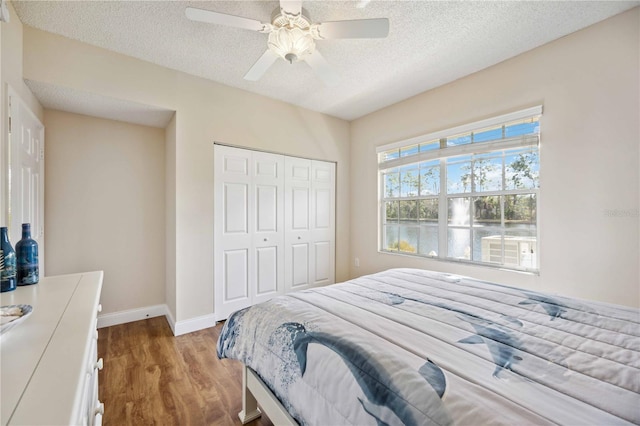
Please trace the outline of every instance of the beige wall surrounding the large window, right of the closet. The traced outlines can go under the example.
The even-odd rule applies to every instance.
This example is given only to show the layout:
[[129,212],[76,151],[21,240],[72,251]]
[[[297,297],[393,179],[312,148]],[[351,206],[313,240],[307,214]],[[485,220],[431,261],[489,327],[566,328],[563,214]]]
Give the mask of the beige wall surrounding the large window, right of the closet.
[[[640,306],[639,21],[636,8],[352,122],[351,275],[420,267]],[[376,146],[540,104],[539,276],[377,252]]]

